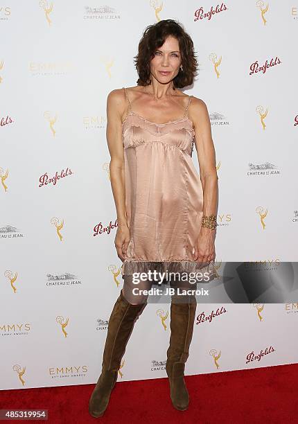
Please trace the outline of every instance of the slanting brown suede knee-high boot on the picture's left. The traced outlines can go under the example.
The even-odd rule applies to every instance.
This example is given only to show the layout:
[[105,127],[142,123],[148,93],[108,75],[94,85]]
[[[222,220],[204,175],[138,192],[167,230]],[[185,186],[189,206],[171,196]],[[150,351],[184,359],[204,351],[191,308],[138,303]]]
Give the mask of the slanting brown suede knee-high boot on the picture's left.
[[107,409],[109,396],[116,384],[121,358],[125,353],[134,322],[137,321],[146,305],[147,302],[132,305],[123,297],[122,290],[114,304],[107,327],[102,371],[89,400],[89,414],[95,418],[102,416]]

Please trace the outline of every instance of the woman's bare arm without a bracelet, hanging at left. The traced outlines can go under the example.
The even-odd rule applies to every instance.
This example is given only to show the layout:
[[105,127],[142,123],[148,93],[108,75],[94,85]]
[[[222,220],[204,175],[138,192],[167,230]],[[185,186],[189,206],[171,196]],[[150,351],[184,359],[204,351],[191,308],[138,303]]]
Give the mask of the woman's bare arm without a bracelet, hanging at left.
[[124,150],[122,142],[122,121],[123,111],[126,102],[123,90],[112,90],[107,96],[107,147],[111,161],[109,162],[109,174],[111,177],[112,193],[116,206],[118,228],[115,237],[117,254],[124,260],[128,243],[130,241],[130,231],[125,209],[125,168]]

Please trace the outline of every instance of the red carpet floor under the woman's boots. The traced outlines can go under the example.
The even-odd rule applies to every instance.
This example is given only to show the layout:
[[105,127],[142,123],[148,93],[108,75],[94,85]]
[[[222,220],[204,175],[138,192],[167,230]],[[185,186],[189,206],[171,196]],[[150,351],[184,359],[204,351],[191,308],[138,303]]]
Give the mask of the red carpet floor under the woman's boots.
[[298,364],[186,376],[185,380],[191,401],[184,412],[173,408],[166,378],[117,383],[101,418],[88,413],[94,385],[2,390],[0,409],[48,409],[51,424],[298,422]]

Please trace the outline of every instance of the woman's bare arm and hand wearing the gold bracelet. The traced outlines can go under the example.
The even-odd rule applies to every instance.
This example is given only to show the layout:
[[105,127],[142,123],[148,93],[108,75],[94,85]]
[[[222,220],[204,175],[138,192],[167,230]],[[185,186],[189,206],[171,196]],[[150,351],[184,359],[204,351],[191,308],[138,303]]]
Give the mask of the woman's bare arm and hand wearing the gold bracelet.
[[[218,175],[216,172],[216,152],[211,135],[207,105],[203,100],[194,97],[189,110],[191,111],[190,118],[195,129],[195,148],[198,152],[200,179],[204,193],[203,215],[217,215]],[[200,238],[195,251],[198,260],[207,262],[215,258],[215,233],[216,229],[201,227]]]

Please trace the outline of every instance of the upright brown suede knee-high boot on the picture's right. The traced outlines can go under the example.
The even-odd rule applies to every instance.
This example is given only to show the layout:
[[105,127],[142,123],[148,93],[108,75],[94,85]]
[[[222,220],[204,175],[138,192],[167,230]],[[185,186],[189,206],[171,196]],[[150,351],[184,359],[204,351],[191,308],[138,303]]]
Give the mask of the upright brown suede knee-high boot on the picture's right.
[[[181,303],[182,301],[186,303]],[[173,294],[170,305],[170,346],[167,351],[166,373],[170,383],[170,399],[173,407],[179,411],[185,411],[189,407],[184,369],[193,337],[196,308],[195,296],[184,297]]]

